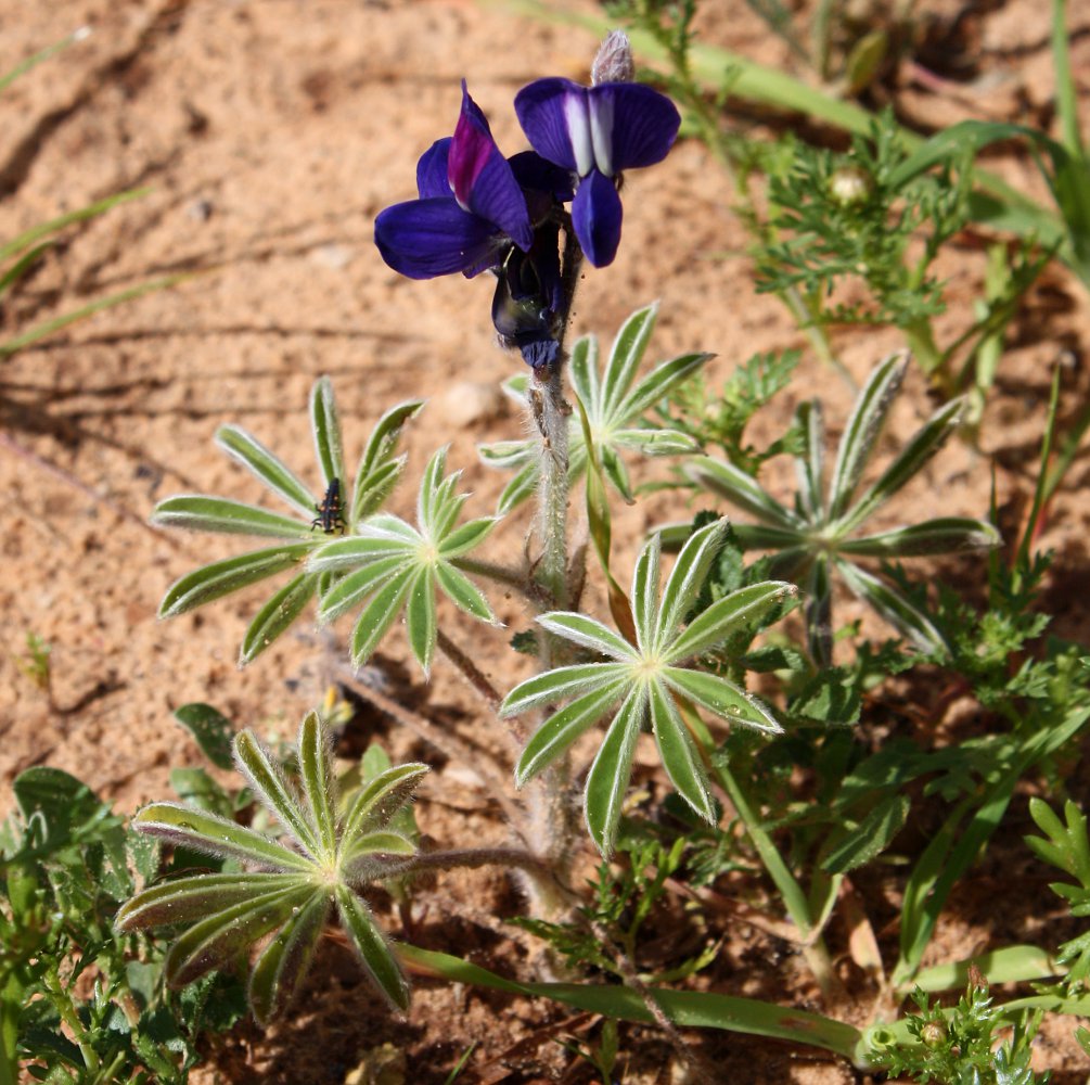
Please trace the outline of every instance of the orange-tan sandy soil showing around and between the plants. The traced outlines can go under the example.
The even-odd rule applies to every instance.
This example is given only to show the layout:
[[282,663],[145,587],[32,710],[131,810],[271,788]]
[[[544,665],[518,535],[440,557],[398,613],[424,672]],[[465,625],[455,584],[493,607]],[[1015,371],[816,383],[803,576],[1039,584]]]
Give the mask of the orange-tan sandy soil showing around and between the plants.
[[[954,33],[941,7],[923,7],[934,8],[924,12],[937,27],[933,36]],[[958,23],[958,48],[978,64],[973,77],[936,92],[904,76],[898,105],[906,117],[921,125],[964,116],[1049,123],[1047,25],[1038,7],[1010,0]],[[1085,95],[1090,10],[1073,7],[1080,9],[1073,16],[1075,69]],[[710,40],[792,63],[741,0],[707,8]],[[398,278],[372,243],[372,222],[383,206],[414,194],[416,158],[451,130],[461,77],[470,81],[500,146],[513,153],[523,146],[510,108],[514,92],[540,75],[580,77],[595,43],[588,33],[529,23],[468,0],[0,0],[0,70],[83,24],[94,28],[88,40],[0,98],[0,237],[125,188],[150,191],[73,231],[49,254],[3,312],[4,330],[157,275],[193,274],[25,350],[0,370],[0,781],[7,787],[29,765],[51,764],[133,809],[169,794],[171,767],[198,761],[171,719],[179,704],[209,701],[240,726],[290,736],[324,691],[330,649],[307,623],[249,670],[235,668],[259,592],[169,623],[156,617],[174,578],[238,546],[149,528],[155,503],[186,491],[261,499],[255,484],[213,446],[218,424],[246,426],[316,487],[305,413],[316,376],[335,382],[350,461],[384,410],[427,397],[431,405],[408,439],[413,468],[449,442],[450,463],[464,470],[474,508],[491,509],[505,479],[480,466],[474,443],[522,431],[522,420],[495,390],[522,363],[494,345],[487,282]],[[732,123],[762,131],[766,120],[743,116]],[[1025,160],[993,165],[1040,194]],[[609,269],[585,276],[576,330],[608,339],[629,312],[657,298],[655,359],[713,350],[713,375],[722,378],[755,351],[804,347],[779,302],[754,292],[744,246],[722,172],[701,145],[681,142],[662,167],[628,179],[620,255]],[[945,270],[950,309],[942,329],[949,334],[965,326],[980,289],[981,246],[967,240]],[[923,507],[983,515],[993,466],[1005,515],[1017,522],[1031,491],[1057,361],[1068,364],[1063,415],[1073,417],[1086,398],[1086,292],[1063,269],[1050,269],[1009,339],[983,455],[952,446],[884,514],[887,522],[916,517]],[[859,379],[897,340],[851,335],[840,346]],[[843,419],[846,388],[809,354],[801,373],[759,423],[759,437],[774,434],[795,399],[815,390],[827,399],[829,418]],[[891,443],[930,410],[919,375],[911,374],[908,385]],[[1090,641],[1087,478],[1083,456],[1042,538],[1057,552],[1046,589],[1056,631],[1082,641]],[[408,513],[411,492],[405,486],[396,496],[397,510]],[[618,551],[631,551],[646,527],[680,511],[662,498],[623,510]],[[517,520],[499,544],[519,545],[523,530]],[[958,563],[943,570],[974,576]],[[497,600],[497,606],[506,620],[518,620],[513,602]],[[51,697],[16,666],[28,632],[52,646]],[[470,636],[467,647],[507,688],[506,635]],[[477,709],[448,668],[437,664],[424,688],[413,667],[399,671],[407,659],[400,635],[384,652],[390,673],[407,676],[396,679],[405,697],[473,733]],[[432,756],[388,723],[376,720],[375,727],[399,756]],[[0,799],[0,807],[7,805]],[[445,844],[504,839],[495,810],[457,765],[435,773],[420,818]],[[1017,841],[1012,833],[1010,846],[1017,848]],[[1001,923],[972,906],[994,890],[989,879],[997,877],[985,866],[965,907],[958,911],[955,902],[937,954],[964,956],[1000,938],[1006,926],[1030,921],[1013,916]],[[1039,882],[1033,892],[1049,914],[1058,914]],[[896,902],[889,903],[895,915]],[[501,879],[443,878],[428,907],[426,944],[440,948],[449,938],[446,948],[479,954],[483,963],[521,966],[524,947],[495,918],[519,909]],[[440,913],[448,918],[439,919]],[[712,981],[725,991],[813,1004],[816,992],[786,949],[738,928]],[[347,954],[334,945],[327,959],[306,996],[306,1012],[266,1037],[240,1029],[220,1057],[217,1080],[346,1081],[368,1050],[387,1041],[408,1052],[409,1081],[444,1081],[473,1041],[480,1045],[477,1076],[469,1081],[590,1080],[553,1041],[552,1026],[564,1020],[555,1006],[422,981],[410,1016],[395,1021],[361,986]],[[580,1018],[568,1028],[592,1024]],[[1042,1041],[1041,1065],[1053,1066],[1061,1085],[1087,1072],[1067,1032],[1051,1029]],[[622,1036],[632,1052],[626,1081],[678,1080],[661,1036],[634,1028]],[[526,1042],[510,1053],[520,1040]],[[845,1065],[783,1046],[743,1037],[698,1042],[725,1081],[855,1080]],[[505,1057],[513,1066],[506,1075]]]

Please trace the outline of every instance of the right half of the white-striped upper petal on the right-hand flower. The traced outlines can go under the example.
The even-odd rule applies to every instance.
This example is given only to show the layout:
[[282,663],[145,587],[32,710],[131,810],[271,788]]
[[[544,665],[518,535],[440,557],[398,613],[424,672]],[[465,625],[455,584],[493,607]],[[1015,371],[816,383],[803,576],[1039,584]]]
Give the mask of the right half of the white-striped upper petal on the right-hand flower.
[[600,169],[616,176],[666,157],[681,125],[681,114],[666,95],[639,83],[603,83],[588,94]]

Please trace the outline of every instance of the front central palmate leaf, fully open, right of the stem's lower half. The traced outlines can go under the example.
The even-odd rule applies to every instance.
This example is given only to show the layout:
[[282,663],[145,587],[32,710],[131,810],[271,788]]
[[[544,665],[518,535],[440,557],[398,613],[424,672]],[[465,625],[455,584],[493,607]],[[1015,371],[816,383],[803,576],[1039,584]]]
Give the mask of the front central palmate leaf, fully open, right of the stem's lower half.
[[726,678],[685,665],[691,656],[766,618],[795,592],[790,584],[777,581],[753,584],[725,596],[682,627],[723,545],[726,529],[726,520],[718,520],[692,534],[666,578],[662,598],[658,538],[643,547],[631,592],[638,644],[584,614],[557,612],[538,618],[555,637],[611,662],[577,663],[535,675],[516,686],[500,706],[500,714],[510,716],[568,701],[549,714],[526,743],[516,768],[520,787],[561,757],[595,723],[614,713],[588,773],[584,801],[588,829],[603,855],[614,846],[635,742],[644,730],[654,734],[663,768],[678,794],[701,817],[710,821],[715,818],[703,760],[678,711],[676,697],[735,724],[766,733],[782,730],[743,689]]

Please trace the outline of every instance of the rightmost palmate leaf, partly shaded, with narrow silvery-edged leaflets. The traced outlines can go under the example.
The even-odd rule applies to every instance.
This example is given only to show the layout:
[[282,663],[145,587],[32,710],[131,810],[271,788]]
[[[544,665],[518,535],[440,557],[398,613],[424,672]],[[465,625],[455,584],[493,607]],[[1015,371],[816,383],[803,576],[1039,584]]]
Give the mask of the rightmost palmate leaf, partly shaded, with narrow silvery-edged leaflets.
[[[969,517],[940,517],[876,534],[860,534],[864,522],[943,446],[960,418],[959,400],[943,405],[877,481],[857,497],[906,365],[906,355],[891,354],[871,374],[840,438],[827,491],[823,480],[821,405],[813,400],[798,408],[796,425],[802,434],[802,454],[795,461],[799,490],[794,510],[731,463],[698,456],[686,465],[686,473],[695,483],[758,520],[734,526],[737,542],[746,550],[775,552],[772,570],[797,579],[806,590],[807,639],[811,654],[822,665],[831,664],[833,655],[834,572],[921,651],[943,654],[947,647],[931,618],[895,586],[857,566],[856,559],[962,553],[1001,542],[991,523]],[[670,529],[667,538],[676,544],[685,535],[679,529]]]

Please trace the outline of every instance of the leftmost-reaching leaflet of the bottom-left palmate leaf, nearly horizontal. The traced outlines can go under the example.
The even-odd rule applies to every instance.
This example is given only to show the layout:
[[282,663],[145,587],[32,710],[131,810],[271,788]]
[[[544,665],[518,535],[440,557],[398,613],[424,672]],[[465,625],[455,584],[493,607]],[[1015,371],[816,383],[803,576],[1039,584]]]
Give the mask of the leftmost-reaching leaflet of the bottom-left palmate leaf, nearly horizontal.
[[177,878],[145,889],[125,901],[114,923],[119,930],[195,923],[255,897],[298,888],[300,877],[298,873],[232,871]]

